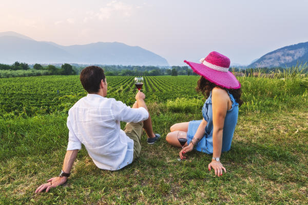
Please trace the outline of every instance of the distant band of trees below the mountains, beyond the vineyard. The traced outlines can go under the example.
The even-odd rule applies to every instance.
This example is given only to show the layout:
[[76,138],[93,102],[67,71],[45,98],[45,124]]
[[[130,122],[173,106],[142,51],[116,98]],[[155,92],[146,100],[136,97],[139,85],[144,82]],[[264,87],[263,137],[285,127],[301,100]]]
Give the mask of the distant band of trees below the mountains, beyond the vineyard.
[[[107,76],[158,76],[158,75],[196,75],[192,72],[188,66],[172,66],[172,67],[157,67],[157,66],[122,66],[122,65],[95,65],[100,66],[104,69]],[[20,63],[16,61],[12,65],[0,64],[0,77],[8,76],[35,76],[35,75],[75,75],[86,67],[86,65],[78,64],[55,64],[55,65],[44,65],[34,64],[29,66],[26,63]],[[229,71],[234,72],[237,76],[246,75],[249,76],[253,73],[277,73],[291,70],[292,73],[308,73],[308,67],[306,64],[297,65],[292,68],[230,68]],[[25,72],[17,72],[25,71]],[[42,72],[31,72],[30,71],[42,71]],[[43,72],[44,71],[44,72]],[[291,72],[289,71],[289,72]],[[17,72],[17,73],[15,73]],[[241,74],[242,73],[242,74]]]

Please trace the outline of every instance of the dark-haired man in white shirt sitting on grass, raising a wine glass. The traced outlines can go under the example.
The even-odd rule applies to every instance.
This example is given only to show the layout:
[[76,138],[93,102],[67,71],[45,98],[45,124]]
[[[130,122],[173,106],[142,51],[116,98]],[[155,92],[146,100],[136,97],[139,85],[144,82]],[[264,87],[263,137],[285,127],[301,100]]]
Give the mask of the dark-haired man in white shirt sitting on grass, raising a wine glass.
[[[148,144],[160,138],[154,134],[152,122],[142,92],[136,94],[132,108],[114,98],[106,98],[107,81],[103,69],[86,67],[80,81],[88,92],[69,110],[67,152],[59,177],[53,177],[35,190],[35,193],[57,187],[66,182],[81,144],[85,146],[95,165],[100,169],[119,170],[139,157],[142,129]],[[128,122],[121,130],[120,121]]]

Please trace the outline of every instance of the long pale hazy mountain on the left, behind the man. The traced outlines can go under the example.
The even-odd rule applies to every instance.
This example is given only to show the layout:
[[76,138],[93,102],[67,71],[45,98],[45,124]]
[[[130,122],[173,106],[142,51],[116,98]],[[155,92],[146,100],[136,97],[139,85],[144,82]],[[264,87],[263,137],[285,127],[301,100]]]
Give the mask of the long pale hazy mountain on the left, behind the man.
[[61,46],[53,42],[37,42],[27,36],[0,33],[0,63],[21,61],[29,64],[101,64],[168,66],[165,58],[138,46],[123,43],[93,43]]

